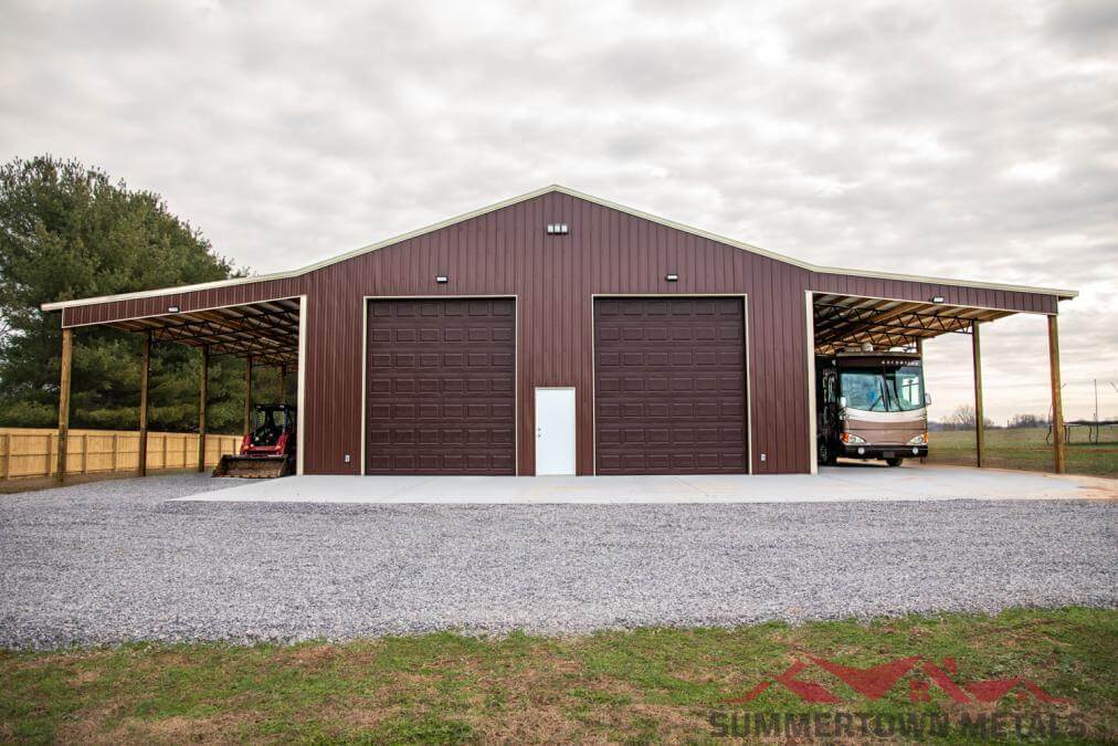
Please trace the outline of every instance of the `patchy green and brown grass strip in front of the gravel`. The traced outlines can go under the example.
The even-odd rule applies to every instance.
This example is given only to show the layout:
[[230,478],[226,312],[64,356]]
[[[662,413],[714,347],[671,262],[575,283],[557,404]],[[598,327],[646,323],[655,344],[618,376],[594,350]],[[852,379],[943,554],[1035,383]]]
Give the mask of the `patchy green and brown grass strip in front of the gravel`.
[[[1080,740],[1118,738],[1118,613],[1060,608],[576,638],[0,652],[0,742],[705,743],[712,711],[742,711],[726,700],[805,654],[854,667],[955,658],[960,683],[1024,677],[1072,702],[1007,697],[999,714],[1024,714],[1026,724],[1038,712],[1081,718]],[[953,705],[935,687],[930,702],[912,703],[906,680],[871,701],[819,669],[799,678],[849,700],[842,711],[995,711]],[[774,686],[748,710],[833,715],[836,706],[805,705]]]

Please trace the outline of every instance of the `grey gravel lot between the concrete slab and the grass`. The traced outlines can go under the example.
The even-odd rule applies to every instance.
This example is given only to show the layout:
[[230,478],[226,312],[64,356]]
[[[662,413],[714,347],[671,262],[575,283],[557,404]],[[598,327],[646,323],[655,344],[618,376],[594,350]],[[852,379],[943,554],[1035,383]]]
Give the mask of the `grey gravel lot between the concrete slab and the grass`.
[[1114,502],[164,502],[222,487],[0,495],[0,646],[1118,606]]

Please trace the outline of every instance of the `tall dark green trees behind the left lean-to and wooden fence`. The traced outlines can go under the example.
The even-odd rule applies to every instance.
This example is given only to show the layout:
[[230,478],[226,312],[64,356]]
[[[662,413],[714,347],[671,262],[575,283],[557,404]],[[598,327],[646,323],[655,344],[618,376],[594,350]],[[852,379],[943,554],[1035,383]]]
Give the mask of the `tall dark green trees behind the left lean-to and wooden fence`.
[[[50,155],[0,167],[0,426],[58,423],[61,329],[42,303],[244,276],[159,195],[97,168]],[[74,333],[70,426],[135,429],[142,334],[103,327]],[[208,427],[241,428],[244,361],[210,360]],[[149,426],[198,426],[200,353],[152,346]],[[278,372],[254,371],[276,398]],[[267,391],[265,396],[263,391]],[[263,398],[259,398],[263,400]]]

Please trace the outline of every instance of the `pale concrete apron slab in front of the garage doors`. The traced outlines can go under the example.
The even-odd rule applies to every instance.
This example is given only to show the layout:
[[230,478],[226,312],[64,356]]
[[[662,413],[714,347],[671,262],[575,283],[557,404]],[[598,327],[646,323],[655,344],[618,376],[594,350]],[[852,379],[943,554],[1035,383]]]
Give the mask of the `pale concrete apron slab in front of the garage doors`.
[[176,498],[207,502],[369,504],[671,504],[1118,498],[1118,481],[963,466],[836,466],[818,475],[288,476],[228,480]]

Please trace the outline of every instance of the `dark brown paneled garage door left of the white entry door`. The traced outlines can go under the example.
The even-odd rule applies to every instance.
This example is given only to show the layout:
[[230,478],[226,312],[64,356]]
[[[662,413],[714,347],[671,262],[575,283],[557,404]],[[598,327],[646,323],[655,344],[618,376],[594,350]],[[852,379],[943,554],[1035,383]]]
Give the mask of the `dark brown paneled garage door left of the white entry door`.
[[511,300],[369,302],[367,474],[515,473]]

